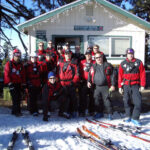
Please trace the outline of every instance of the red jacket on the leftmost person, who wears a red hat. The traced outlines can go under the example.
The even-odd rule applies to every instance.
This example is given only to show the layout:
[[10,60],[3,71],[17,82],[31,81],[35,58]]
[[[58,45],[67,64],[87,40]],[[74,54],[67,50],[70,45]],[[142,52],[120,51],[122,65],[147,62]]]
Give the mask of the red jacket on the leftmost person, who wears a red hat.
[[22,63],[16,63],[13,59],[6,63],[4,68],[4,83],[25,83],[25,69]]

